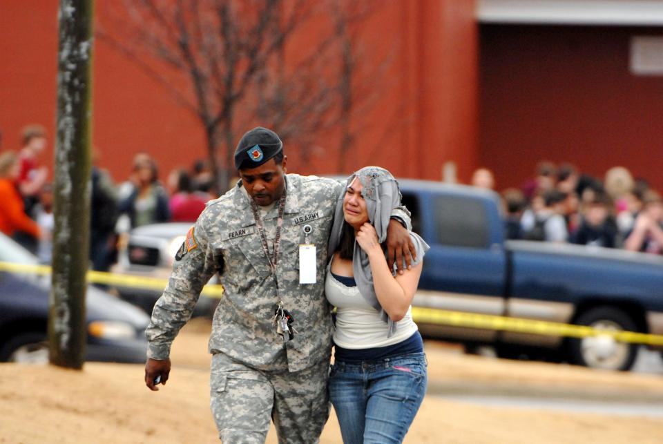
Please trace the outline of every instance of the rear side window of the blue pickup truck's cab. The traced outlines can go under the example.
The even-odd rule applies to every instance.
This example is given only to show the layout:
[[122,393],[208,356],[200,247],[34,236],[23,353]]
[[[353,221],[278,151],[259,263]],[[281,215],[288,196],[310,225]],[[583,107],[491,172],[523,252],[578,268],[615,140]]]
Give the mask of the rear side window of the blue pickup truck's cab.
[[488,217],[481,200],[459,196],[435,197],[435,226],[440,244],[488,247]]

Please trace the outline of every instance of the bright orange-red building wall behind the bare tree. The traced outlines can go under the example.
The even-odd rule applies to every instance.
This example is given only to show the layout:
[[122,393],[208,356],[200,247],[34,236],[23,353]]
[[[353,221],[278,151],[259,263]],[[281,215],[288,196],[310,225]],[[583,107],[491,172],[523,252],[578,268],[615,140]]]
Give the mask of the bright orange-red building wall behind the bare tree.
[[[23,125],[43,124],[50,132],[48,165],[55,135],[57,3],[0,2],[0,149],[19,148]],[[381,164],[396,175],[439,179],[443,162],[452,160],[467,180],[477,155],[474,0],[378,3],[383,6],[361,32],[364,62],[390,62],[378,99],[358,123],[347,168]],[[110,4],[96,2],[97,23],[108,26]],[[307,36],[300,38],[305,44]],[[155,157],[162,178],[206,156],[202,129],[188,111],[107,44],[97,40],[94,50],[93,142],[99,164],[117,182],[128,175],[137,151]],[[334,134],[320,137],[318,145],[314,162],[290,158],[289,171],[336,172]]]

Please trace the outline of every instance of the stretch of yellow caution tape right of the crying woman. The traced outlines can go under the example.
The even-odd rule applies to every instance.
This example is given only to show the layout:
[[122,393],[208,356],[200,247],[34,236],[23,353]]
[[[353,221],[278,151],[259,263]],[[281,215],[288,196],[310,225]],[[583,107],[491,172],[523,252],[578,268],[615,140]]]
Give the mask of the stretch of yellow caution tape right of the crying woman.
[[516,333],[540,334],[587,338],[588,336],[611,336],[619,342],[647,345],[663,345],[663,335],[637,333],[635,331],[594,329],[585,325],[562,324],[544,320],[508,318],[480,313],[464,313],[425,307],[412,307],[412,318],[423,324],[451,325],[475,329],[514,331]]

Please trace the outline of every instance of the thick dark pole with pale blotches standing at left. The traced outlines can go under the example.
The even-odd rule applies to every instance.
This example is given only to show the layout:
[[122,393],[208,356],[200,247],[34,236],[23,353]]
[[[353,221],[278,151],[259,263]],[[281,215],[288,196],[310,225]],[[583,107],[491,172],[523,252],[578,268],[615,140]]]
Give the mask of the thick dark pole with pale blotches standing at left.
[[81,369],[86,343],[90,231],[90,95],[93,0],[61,0],[55,148],[55,230],[50,363]]

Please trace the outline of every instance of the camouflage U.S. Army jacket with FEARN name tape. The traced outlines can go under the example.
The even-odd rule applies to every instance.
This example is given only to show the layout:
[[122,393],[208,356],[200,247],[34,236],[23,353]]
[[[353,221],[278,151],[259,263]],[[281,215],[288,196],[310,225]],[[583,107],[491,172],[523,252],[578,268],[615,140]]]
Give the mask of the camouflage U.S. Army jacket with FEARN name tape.
[[[209,202],[178,253],[173,273],[157,301],[146,336],[148,357],[169,357],[171,343],[206,282],[218,272],[224,295],[214,313],[209,349],[242,363],[265,366],[285,347],[289,371],[328,359],[332,347],[331,307],[325,298],[327,242],[334,208],[343,184],[316,176],[287,175],[287,197],[277,262],[283,308],[291,312],[297,333],[288,342],[273,325],[276,280],[262,249],[249,198],[241,184]],[[264,217],[267,240],[273,242],[278,205]],[[409,224],[407,210],[394,215]],[[305,239],[303,226],[313,229]],[[299,283],[299,245],[316,245],[315,284]],[[184,253],[184,254],[182,254]]]

